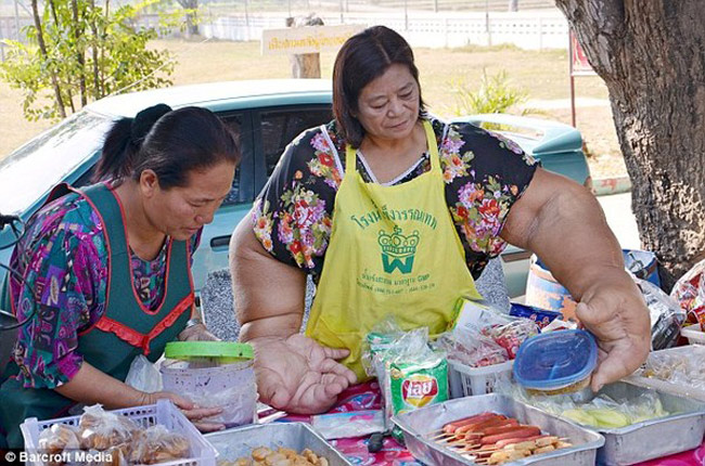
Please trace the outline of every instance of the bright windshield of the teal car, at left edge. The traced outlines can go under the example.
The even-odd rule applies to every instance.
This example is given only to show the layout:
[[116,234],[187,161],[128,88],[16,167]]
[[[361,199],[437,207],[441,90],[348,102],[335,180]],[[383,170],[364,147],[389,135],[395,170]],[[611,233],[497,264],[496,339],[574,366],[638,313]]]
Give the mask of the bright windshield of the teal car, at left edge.
[[79,112],[0,160],[0,212],[25,211],[62,182],[100,150],[111,124]]

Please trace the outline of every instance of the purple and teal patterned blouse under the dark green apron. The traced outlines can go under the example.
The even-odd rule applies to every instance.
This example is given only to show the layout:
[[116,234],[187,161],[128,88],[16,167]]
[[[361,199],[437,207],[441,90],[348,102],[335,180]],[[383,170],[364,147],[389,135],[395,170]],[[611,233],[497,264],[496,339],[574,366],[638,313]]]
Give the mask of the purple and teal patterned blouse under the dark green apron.
[[[201,233],[191,238],[191,254]],[[156,309],[164,296],[167,240],[154,260],[131,254],[132,281],[142,305]],[[105,312],[107,247],[103,225],[90,204],[68,194],[42,208],[12,254],[11,280],[20,327],[13,360],[24,387],[55,388],[80,368],[78,334]]]

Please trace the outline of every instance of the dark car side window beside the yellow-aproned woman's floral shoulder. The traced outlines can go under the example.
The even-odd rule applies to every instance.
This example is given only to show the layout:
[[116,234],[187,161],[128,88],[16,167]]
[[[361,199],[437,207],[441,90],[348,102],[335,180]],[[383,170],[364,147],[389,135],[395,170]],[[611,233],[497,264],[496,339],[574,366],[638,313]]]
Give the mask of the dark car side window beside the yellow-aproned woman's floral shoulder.
[[333,119],[330,106],[284,108],[260,113],[261,139],[267,176],[269,177],[286,144],[302,131]]

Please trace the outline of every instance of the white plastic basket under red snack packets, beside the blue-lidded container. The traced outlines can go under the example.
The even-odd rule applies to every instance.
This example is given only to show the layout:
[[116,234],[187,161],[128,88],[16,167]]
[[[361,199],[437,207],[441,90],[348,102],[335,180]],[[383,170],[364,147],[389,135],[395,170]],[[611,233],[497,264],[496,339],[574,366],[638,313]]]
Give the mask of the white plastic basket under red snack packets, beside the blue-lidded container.
[[448,360],[450,398],[492,393],[500,383],[511,380],[513,365],[514,361],[507,361],[484,367],[470,367]]

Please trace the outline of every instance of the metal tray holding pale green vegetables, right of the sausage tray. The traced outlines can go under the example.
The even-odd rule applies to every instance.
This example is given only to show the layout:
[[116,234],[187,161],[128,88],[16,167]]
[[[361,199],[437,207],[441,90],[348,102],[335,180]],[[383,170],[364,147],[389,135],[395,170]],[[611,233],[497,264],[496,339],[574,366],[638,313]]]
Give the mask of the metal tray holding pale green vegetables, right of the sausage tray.
[[[619,400],[636,398],[649,390],[652,389],[618,381],[605,386],[600,393]],[[595,429],[605,439],[604,446],[598,451],[598,464],[631,465],[692,450],[702,443],[705,433],[705,403],[659,390],[653,391],[661,398],[664,410],[680,414],[618,429]]]

